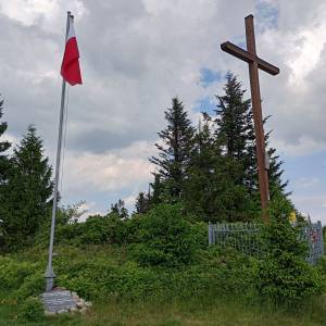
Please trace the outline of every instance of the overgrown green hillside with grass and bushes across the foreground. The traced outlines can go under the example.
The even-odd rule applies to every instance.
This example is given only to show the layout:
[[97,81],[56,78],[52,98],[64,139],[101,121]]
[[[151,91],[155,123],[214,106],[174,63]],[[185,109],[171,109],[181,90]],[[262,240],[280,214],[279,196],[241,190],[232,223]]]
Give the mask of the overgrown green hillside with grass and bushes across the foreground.
[[86,315],[41,315],[30,299],[45,288],[48,250],[40,235],[29,248],[0,254],[0,325],[326,325],[326,261],[308,265],[283,217],[264,234],[268,253],[255,259],[208,247],[206,225],[185,218],[179,205],[131,220],[59,224],[57,285],[93,306]]

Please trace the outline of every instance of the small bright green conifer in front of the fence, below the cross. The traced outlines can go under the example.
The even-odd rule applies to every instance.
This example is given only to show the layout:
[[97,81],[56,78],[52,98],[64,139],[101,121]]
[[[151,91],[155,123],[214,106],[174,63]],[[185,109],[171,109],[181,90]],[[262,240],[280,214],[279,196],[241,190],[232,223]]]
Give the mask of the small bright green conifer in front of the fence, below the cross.
[[259,264],[256,287],[273,303],[293,304],[322,290],[316,269],[304,261],[306,246],[289,222],[292,210],[279,195],[271,204],[271,222],[264,227],[266,256]]

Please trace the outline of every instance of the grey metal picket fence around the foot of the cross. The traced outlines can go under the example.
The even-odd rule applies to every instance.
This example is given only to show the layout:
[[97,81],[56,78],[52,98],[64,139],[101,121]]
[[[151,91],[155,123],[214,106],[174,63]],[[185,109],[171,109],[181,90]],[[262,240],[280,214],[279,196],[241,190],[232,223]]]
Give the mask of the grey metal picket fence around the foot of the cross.
[[[262,225],[254,223],[209,224],[209,244],[231,247],[242,253],[261,258],[264,254],[261,229]],[[302,226],[301,239],[308,242],[306,261],[310,264],[316,264],[318,259],[324,255],[322,223]]]

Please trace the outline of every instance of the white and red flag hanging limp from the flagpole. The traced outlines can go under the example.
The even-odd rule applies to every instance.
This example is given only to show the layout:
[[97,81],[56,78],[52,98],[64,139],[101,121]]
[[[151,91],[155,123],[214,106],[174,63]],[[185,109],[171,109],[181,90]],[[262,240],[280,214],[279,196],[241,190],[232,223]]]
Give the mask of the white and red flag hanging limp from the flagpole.
[[79,51],[75,36],[73,17],[70,17],[68,35],[61,65],[61,76],[72,86],[83,84],[79,67]]

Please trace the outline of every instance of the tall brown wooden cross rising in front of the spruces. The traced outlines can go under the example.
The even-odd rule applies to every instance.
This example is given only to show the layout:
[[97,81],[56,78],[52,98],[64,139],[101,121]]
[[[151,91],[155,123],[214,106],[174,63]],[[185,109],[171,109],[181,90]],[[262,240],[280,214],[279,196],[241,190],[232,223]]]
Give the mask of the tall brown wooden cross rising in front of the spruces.
[[244,22],[246,22],[247,51],[242,50],[241,48],[228,41],[222,43],[221,49],[229,54],[233,54],[238,59],[248,62],[249,64],[251,102],[252,102],[252,112],[253,112],[253,121],[254,121],[256,158],[258,158],[258,167],[259,167],[259,186],[261,192],[261,204],[263,210],[263,217],[265,222],[267,222],[268,217],[267,217],[266,209],[269,201],[269,189],[268,189],[267,159],[265,155],[264,126],[263,126],[263,115],[262,115],[259,68],[274,76],[279,73],[279,68],[258,58],[255,51],[253,15],[247,16],[244,18]]

